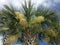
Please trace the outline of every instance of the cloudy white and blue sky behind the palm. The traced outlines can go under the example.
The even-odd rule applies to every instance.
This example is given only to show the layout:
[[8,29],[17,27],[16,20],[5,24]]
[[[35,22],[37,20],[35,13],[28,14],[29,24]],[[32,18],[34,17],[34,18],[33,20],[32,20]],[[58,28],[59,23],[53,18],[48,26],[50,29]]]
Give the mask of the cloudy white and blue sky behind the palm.
[[[13,4],[16,8],[21,7],[21,4],[24,0],[0,0],[0,9],[3,8],[3,5],[8,5],[9,3]],[[28,0],[26,0],[28,1]],[[35,7],[43,6],[46,8],[56,9],[60,12],[60,0],[32,0]],[[41,45],[47,45],[46,43],[40,42]],[[0,45],[2,45],[2,37],[0,36]]]

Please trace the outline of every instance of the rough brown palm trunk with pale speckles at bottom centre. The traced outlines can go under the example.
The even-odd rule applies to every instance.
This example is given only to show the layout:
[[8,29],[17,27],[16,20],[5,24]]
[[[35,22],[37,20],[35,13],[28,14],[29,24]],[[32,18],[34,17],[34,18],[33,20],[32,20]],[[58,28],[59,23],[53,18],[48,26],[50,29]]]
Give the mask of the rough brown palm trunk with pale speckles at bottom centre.
[[24,39],[22,45],[38,45],[38,40],[31,31],[27,31],[24,33]]

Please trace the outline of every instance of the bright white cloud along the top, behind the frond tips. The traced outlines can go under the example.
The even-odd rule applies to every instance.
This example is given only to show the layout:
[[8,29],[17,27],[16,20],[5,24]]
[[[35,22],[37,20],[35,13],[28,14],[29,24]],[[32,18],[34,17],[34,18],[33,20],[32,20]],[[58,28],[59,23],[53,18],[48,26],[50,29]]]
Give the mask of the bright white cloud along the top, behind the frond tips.
[[[14,6],[21,6],[24,0],[0,0],[0,5],[12,3]],[[28,2],[28,0],[26,0]],[[42,4],[45,0],[32,0],[32,3],[37,7],[39,4]],[[0,6],[1,7],[1,6]]]

